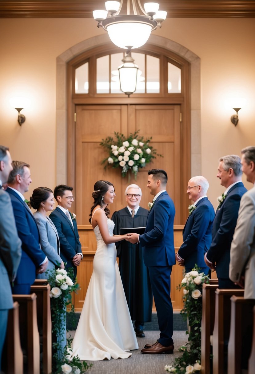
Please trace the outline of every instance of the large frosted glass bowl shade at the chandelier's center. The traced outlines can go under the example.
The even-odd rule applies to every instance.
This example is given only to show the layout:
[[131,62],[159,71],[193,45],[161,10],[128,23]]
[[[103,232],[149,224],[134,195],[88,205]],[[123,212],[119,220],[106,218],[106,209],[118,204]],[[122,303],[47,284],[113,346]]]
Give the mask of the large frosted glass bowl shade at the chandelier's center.
[[113,16],[102,22],[108,31],[111,41],[120,48],[138,48],[144,45],[151,31],[157,27],[157,22],[147,16],[126,15]]

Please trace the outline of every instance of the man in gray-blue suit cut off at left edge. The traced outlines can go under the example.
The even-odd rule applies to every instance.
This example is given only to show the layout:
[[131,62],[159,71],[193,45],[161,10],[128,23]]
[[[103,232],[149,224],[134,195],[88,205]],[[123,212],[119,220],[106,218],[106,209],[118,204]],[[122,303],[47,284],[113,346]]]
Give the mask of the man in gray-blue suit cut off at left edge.
[[12,158],[9,148],[0,145],[0,371],[8,311],[13,308],[10,281],[14,280],[21,259],[21,240],[16,229],[12,203],[9,194],[2,189],[10,171]]

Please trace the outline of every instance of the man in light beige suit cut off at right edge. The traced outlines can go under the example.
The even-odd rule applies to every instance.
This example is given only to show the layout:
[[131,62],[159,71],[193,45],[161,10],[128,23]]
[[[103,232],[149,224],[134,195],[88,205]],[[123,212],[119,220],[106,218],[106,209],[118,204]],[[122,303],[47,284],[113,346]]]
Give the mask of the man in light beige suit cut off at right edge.
[[255,147],[241,152],[243,173],[254,187],[240,202],[230,249],[229,278],[245,289],[245,299],[255,299]]

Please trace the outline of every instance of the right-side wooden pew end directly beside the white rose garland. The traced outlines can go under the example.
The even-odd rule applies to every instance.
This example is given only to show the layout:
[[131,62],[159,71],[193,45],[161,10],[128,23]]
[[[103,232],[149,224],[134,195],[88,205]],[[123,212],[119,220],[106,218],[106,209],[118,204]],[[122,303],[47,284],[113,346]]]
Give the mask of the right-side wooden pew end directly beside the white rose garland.
[[[210,280],[211,281],[211,280]],[[215,291],[218,284],[203,284],[202,291],[202,322],[201,322],[201,372],[211,373],[211,342],[215,316]]]

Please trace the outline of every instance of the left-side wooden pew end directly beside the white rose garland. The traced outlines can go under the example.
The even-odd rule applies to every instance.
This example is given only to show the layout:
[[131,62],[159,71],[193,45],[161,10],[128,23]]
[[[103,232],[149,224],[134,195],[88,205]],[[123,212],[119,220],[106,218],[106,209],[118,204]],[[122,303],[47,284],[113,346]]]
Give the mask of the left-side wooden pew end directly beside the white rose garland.
[[31,292],[34,292],[37,296],[37,323],[43,339],[43,374],[50,374],[52,370],[50,285],[33,285],[31,286]]

